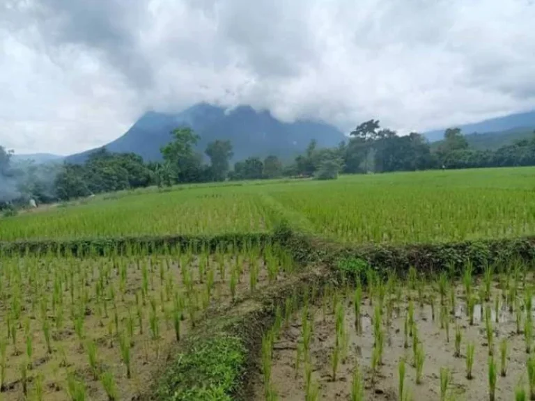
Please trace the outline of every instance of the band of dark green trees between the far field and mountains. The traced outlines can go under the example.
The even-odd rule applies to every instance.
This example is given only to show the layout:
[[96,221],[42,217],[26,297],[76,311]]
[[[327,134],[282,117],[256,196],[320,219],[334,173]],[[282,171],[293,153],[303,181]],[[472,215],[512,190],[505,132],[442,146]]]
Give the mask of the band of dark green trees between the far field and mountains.
[[428,169],[535,166],[535,132],[496,150],[478,150],[469,145],[458,128],[449,128],[436,146],[416,132],[400,136],[380,127],[378,120],[358,125],[347,141],[334,148],[320,148],[311,141],[302,155],[283,163],[277,155],[263,159],[248,157],[231,166],[233,143],[208,143],[205,157],[196,150],[199,135],[188,127],[171,132],[169,143],[160,149],[160,162],[144,162],[134,153],[112,153],[105,148],[93,152],[84,164],[35,164],[13,162],[0,146],[0,208],[68,201],[102,192],[157,185],[224,180],[315,177],[334,179],[339,173],[385,173]]

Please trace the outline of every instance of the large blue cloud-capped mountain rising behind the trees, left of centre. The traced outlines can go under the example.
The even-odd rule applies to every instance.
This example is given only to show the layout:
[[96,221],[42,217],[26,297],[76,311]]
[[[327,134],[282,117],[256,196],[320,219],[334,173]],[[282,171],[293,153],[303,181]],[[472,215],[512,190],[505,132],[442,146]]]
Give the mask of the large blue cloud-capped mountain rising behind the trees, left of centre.
[[[134,152],[146,161],[160,160],[160,148],[171,141],[171,130],[184,126],[192,127],[201,137],[197,146],[199,152],[204,152],[206,145],[215,139],[229,139],[234,161],[267,155],[288,158],[305,150],[311,139],[316,139],[318,146],[336,146],[344,139],[342,132],[325,123],[282,123],[269,111],[255,111],[248,106],[226,111],[201,103],[176,114],[145,113],[123,136],[105,148],[110,152]],[[69,156],[67,161],[84,162],[93,151]]]

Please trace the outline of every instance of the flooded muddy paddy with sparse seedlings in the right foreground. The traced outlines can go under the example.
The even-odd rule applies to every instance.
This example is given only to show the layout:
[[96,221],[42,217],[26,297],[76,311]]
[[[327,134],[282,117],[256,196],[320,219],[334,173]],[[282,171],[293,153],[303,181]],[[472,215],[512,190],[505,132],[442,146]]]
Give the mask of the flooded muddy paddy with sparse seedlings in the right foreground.
[[263,336],[254,400],[532,399],[533,295],[522,263],[309,287]]

